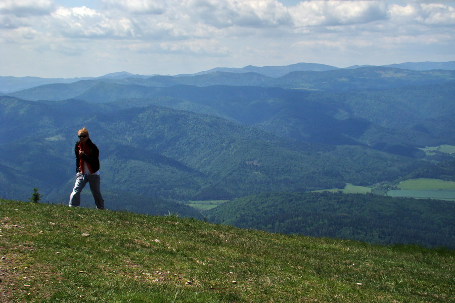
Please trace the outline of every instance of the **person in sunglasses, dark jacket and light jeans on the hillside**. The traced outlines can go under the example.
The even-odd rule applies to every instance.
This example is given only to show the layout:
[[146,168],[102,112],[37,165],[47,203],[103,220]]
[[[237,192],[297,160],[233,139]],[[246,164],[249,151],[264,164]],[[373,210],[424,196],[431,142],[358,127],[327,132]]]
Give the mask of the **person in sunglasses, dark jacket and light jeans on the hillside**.
[[76,155],[76,183],[70,195],[69,206],[80,205],[80,192],[85,184],[90,185],[97,209],[104,210],[104,199],[100,188],[100,151],[88,136],[88,130],[83,127],[77,132],[79,140],[74,146]]

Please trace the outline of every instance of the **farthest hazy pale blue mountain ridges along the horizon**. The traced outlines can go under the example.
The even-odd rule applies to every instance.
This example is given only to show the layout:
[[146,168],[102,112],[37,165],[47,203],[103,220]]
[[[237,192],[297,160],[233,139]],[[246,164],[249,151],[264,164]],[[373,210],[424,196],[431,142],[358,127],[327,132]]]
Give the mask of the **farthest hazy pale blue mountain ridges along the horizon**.
[[[140,85],[146,87],[190,86],[260,86],[307,89],[317,91],[354,91],[391,89],[425,84],[442,84],[455,81],[455,71],[411,71],[386,67],[362,67],[358,69],[339,69],[325,72],[297,71],[273,78],[257,73],[213,72],[195,76],[153,76],[150,78],[92,79],[70,84],[47,84],[16,92],[9,95],[28,100],[64,100],[77,98],[87,87],[97,83]],[[60,92],[60,94],[59,94]]]

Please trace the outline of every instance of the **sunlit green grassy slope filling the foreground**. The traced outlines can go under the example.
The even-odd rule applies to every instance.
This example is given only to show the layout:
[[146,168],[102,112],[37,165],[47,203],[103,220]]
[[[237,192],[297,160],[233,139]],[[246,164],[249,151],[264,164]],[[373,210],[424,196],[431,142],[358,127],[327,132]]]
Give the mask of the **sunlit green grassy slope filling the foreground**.
[[455,251],[0,200],[0,301],[450,302]]

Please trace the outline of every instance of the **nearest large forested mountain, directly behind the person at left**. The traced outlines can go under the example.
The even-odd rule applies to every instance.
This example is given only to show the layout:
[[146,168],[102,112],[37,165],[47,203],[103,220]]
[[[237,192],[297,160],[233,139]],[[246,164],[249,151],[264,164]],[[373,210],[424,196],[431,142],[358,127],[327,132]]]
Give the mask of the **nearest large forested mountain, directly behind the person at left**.
[[[72,138],[81,123],[93,129],[100,147],[104,186],[143,195],[191,198],[209,187],[229,198],[264,190],[342,187],[346,182],[373,184],[419,166],[410,158],[363,146],[308,144],[222,118],[156,106],[125,109],[118,103],[76,100],[63,106],[11,97],[0,104],[2,135],[8,143],[0,146],[0,164],[15,176],[8,179],[11,171],[3,172],[4,195],[17,186],[11,180],[21,178],[29,180],[23,188],[33,187],[34,179],[44,193],[52,191],[54,199],[70,190]],[[65,126],[60,126],[63,121]],[[42,174],[49,169],[52,174]]]

